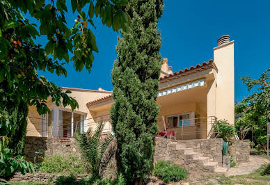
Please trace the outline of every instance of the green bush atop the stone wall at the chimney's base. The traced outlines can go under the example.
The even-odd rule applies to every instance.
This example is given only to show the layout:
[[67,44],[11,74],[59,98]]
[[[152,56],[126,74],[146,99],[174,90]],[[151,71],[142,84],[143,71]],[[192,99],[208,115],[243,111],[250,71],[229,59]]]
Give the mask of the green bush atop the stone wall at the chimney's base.
[[216,138],[223,138],[226,142],[230,142],[235,137],[235,127],[228,123],[227,120],[218,120],[214,124]]

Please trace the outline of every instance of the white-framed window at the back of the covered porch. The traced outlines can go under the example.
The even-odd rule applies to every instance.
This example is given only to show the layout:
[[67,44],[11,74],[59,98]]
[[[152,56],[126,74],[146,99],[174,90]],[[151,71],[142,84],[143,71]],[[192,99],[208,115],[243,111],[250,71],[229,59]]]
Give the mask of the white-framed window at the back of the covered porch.
[[167,127],[186,127],[195,125],[195,113],[183,113],[167,116]]

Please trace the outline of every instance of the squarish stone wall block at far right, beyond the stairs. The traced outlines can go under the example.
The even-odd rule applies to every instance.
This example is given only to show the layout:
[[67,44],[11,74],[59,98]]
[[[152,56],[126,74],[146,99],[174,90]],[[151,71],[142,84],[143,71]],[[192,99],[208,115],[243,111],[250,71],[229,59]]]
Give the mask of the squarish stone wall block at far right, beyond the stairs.
[[249,154],[251,152],[249,140],[235,140],[232,145],[228,147],[228,151],[233,155],[232,159],[236,163],[249,161]]

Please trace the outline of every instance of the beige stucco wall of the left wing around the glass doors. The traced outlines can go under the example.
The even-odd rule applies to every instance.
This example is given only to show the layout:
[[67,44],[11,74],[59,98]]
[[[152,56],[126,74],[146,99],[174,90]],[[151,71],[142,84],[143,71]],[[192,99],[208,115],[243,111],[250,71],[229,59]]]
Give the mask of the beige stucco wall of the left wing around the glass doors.
[[[65,90],[64,90],[65,91]],[[86,106],[88,102],[91,102],[95,99],[100,99],[101,97],[106,97],[108,95],[111,95],[111,93],[106,92],[91,92],[91,91],[83,91],[83,90],[72,90],[72,93],[70,94],[71,97],[74,97],[74,99],[77,100],[79,104],[79,108],[76,108],[74,110],[74,113],[80,113],[86,115],[86,122],[90,122],[90,120],[94,117]],[[48,102],[48,107],[53,108],[56,107],[54,103]],[[72,111],[70,106],[58,106],[59,109],[63,111]],[[32,116],[33,115],[33,116]],[[28,124],[27,124],[27,134],[26,136],[41,136],[41,122],[40,122],[40,115],[36,111],[35,106],[29,106],[29,117],[28,118]],[[50,130],[50,129],[48,129]]]

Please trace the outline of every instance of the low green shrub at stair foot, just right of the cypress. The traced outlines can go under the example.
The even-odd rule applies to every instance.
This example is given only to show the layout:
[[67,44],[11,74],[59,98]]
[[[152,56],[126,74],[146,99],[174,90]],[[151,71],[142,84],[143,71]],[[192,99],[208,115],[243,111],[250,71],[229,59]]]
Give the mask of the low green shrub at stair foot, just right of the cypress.
[[181,166],[177,166],[169,161],[158,161],[154,166],[154,175],[168,183],[186,179],[188,172]]

